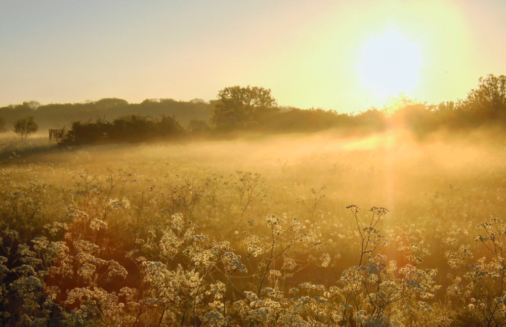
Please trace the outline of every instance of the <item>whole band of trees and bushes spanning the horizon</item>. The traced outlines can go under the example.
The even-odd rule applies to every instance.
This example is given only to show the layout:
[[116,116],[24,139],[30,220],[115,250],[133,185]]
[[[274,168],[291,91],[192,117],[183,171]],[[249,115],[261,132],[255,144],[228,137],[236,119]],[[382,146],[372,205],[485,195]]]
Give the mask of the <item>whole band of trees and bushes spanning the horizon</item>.
[[[46,119],[57,113],[63,115],[64,112],[67,117],[70,114],[82,114],[86,110],[96,114],[95,122],[91,119],[86,122],[76,119],[72,122],[71,128],[61,140],[61,143],[66,145],[139,142],[148,138],[174,137],[185,133],[209,136],[237,131],[309,132],[329,128],[338,128],[349,133],[370,133],[392,126],[402,126],[423,137],[441,128],[465,129],[484,124],[506,124],[506,76],[489,74],[485,78],[481,77],[478,87],[472,89],[466,99],[457,102],[430,105],[399,95],[391,98],[382,109],[370,108],[358,114],[343,114],[320,108],[303,110],[279,107],[271,95],[271,90],[258,86],[226,87],[219,91],[218,100],[210,102],[201,99],[190,102],[161,99],[129,104],[122,99],[108,98],[95,103],[73,105],[40,106],[36,102],[29,102],[12,106],[9,110],[19,110],[17,114],[20,114],[27,111],[26,108],[29,108],[30,116],[18,119],[15,123],[21,126],[16,127],[18,131],[22,131],[17,131],[20,137],[26,137],[33,132],[34,113],[41,116],[49,113],[45,116]],[[178,110],[181,111],[181,116],[171,114]],[[5,107],[0,108],[0,117],[5,111]],[[129,114],[119,115],[119,118],[112,122],[101,118],[101,115],[121,112]],[[158,115],[151,116],[147,113]],[[26,125],[27,122],[31,125]],[[27,132],[26,126],[32,126],[31,131]]]

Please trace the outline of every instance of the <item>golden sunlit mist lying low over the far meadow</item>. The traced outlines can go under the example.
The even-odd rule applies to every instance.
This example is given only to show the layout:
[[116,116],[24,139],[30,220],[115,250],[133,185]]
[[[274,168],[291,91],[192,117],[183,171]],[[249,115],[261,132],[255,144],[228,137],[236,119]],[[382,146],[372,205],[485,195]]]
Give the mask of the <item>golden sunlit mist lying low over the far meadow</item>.
[[334,207],[383,206],[403,219],[450,185],[472,192],[483,183],[498,183],[496,176],[506,171],[502,137],[500,131],[476,129],[466,135],[433,133],[419,141],[408,130],[391,129],[358,137],[327,131],[91,146],[27,157],[24,165],[33,175],[19,176],[19,181],[40,179],[45,164],[93,174],[123,169],[146,179],[161,178],[167,169],[198,176],[244,171],[259,173],[273,195],[294,200],[311,188],[325,188],[326,201]]

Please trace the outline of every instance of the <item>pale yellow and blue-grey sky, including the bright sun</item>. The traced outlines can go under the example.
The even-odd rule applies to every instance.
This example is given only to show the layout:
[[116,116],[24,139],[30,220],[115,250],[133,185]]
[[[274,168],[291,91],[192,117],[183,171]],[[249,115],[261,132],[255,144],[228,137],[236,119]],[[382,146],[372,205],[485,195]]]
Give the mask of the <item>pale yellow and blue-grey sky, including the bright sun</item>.
[[0,106],[217,99],[358,113],[506,74],[503,0],[0,0]]

